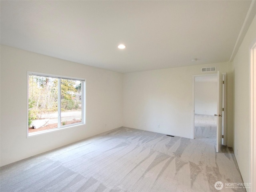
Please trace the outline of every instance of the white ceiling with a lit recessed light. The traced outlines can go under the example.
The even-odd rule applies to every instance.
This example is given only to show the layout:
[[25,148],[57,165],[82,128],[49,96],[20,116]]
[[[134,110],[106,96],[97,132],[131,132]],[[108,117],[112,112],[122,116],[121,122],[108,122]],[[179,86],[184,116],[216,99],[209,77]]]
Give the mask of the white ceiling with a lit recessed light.
[[228,62],[252,21],[251,4],[1,0],[0,38],[3,45],[121,73]]

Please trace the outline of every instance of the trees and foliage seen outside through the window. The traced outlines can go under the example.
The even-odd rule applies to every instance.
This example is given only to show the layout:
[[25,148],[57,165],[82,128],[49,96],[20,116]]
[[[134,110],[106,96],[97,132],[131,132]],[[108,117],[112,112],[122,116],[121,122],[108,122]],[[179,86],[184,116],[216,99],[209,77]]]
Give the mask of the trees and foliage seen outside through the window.
[[[61,108],[65,110],[81,109],[81,82],[60,79]],[[58,112],[58,78],[29,75],[28,124],[42,118],[42,114]]]

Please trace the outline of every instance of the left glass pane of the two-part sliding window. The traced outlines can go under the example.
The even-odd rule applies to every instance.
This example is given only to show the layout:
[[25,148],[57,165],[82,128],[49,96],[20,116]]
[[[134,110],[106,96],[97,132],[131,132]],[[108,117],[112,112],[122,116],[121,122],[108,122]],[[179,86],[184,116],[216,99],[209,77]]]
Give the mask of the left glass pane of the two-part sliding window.
[[29,75],[28,132],[58,128],[58,79]]

